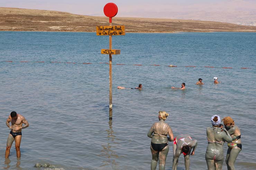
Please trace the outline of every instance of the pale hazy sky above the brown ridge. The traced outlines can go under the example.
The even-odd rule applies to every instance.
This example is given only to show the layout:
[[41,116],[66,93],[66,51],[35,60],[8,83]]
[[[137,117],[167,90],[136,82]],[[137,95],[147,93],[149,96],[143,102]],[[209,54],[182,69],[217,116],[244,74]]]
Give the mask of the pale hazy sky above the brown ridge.
[[256,0],[0,0],[0,7],[104,16],[103,7],[108,2],[118,6],[117,17],[166,18],[170,12],[256,11]]

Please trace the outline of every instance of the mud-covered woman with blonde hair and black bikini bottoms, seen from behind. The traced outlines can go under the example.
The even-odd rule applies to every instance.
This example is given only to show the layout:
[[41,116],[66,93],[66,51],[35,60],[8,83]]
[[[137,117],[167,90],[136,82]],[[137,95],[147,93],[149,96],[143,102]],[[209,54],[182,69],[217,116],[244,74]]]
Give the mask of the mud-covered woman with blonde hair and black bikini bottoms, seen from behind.
[[[152,153],[151,170],[156,169],[158,159],[159,170],[165,169],[165,161],[169,151],[168,141],[173,141],[172,128],[168,123],[165,123],[167,116],[169,116],[169,114],[165,111],[159,111],[159,122],[155,122],[148,131],[148,137],[152,138],[150,145]],[[167,138],[167,134],[170,138]]]

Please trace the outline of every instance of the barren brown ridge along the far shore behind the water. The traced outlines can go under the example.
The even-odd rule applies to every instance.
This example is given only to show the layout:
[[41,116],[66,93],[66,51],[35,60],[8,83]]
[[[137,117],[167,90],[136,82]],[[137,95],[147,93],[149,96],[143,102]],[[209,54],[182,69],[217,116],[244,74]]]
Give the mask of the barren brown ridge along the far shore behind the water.
[[[115,17],[112,24],[125,25],[126,32],[256,32],[254,26],[178,19]],[[101,25],[109,25],[107,17],[0,7],[0,31],[95,32]]]

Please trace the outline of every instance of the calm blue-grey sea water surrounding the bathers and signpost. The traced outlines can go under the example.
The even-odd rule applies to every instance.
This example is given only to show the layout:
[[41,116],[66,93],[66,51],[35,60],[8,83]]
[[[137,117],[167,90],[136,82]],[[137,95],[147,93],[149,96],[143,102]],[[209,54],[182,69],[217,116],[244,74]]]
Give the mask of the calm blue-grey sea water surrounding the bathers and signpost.
[[[241,130],[236,169],[256,169],[256,33],[113,37],[113,49],[121,54],[113,56],[112,122],[108,55],[100,54],[108,43],[108,36],[96,33],[0,32],[0,169],[36,170],[36,163],[51,163],[65,170],[148,170],[147,132],[159,110],[170,114],[166,122],[175,136],[190,134],[198,140],[191,170],[207,169],[206,128],[214,114],[232,117]],[[126,65],[116,65],[120,63]],[[221,83],[213,84],[213,77]],[[195,85],[198,78],[203,86]],[[182,82],[186,90],[171,89]],[[143,90],[116,88],[139,83]],[[22,130],[21,159],[17,161],[13,144],[10,163],[4,163],[11,111],[22,114],[30,126]],[[226,143],[224,150],[226,157]],[[172,157],[170,143],[167,170]],[[178,168],[185,169],[183,156]]]

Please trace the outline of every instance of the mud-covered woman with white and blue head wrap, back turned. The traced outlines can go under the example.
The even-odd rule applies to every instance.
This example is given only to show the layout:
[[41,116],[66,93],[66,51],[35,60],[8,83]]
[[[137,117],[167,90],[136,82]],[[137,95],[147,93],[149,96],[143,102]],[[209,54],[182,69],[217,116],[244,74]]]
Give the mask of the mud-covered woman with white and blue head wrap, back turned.
[[225,128],[219,128],[220,117],[214,115],[211,117],[212,127],[206,130],[208,146],[205,153],[208,170],[222,170],[224,160],[222,142],[231,142],[232,138]]

